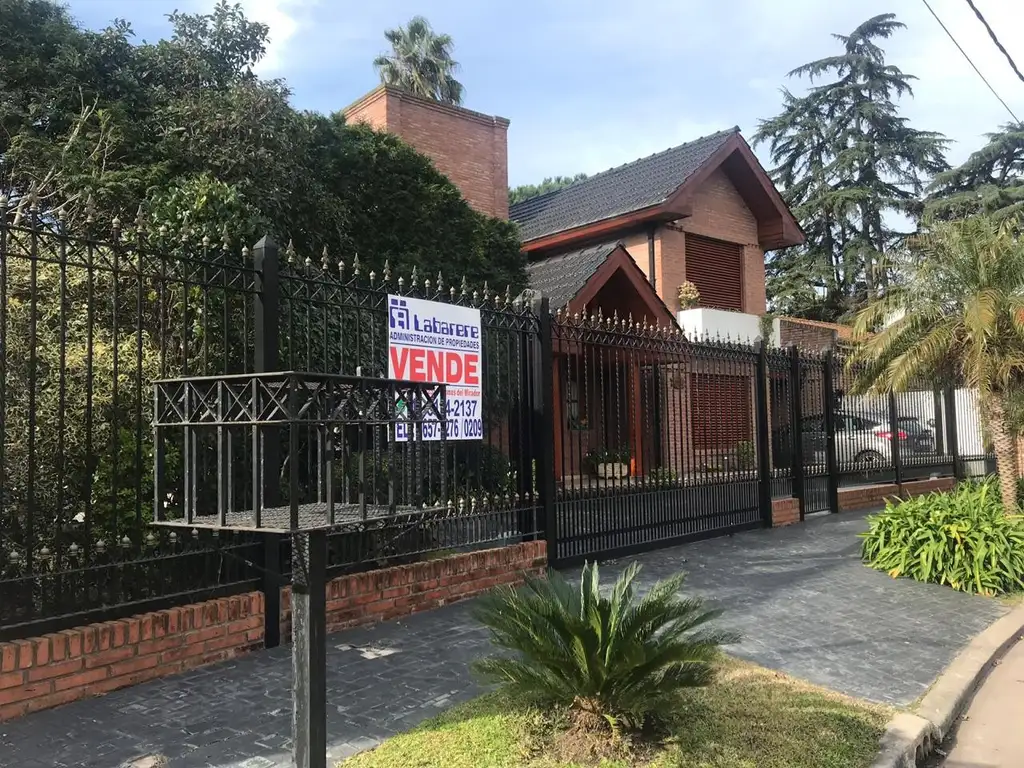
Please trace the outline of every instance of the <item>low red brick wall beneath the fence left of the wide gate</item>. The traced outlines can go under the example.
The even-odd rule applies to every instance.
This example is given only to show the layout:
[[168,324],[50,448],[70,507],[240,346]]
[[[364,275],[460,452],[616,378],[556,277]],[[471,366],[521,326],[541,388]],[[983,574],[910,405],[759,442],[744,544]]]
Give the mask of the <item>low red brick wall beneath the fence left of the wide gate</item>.
[[[429,610],[546,567],[545,543],[528,542],[340,577],[328,584],[328,628]],[[261,648],[263,612],[263,595],[250,592],[0,643],[0,722]]]

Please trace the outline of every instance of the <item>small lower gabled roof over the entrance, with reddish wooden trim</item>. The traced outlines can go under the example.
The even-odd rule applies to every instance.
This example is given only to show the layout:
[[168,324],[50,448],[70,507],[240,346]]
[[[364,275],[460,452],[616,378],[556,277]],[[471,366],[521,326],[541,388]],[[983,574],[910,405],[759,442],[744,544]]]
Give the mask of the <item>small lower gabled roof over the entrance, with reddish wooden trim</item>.
[[604,284],[620,271],[647,307],[651,321],[670,325],[676,322],[672,310],[662,301],[622,243],[600,243],[526,264],[530,289],[548,298],[552,311],[562,307],[570,311],[585,308]]

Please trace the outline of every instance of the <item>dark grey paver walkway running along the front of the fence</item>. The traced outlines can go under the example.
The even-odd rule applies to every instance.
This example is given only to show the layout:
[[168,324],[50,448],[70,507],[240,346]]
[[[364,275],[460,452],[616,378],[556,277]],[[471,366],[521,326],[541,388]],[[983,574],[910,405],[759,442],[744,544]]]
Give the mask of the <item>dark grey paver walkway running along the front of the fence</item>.
[[[638,556],[651,583],[679,568],[743,634],[730,652],[891,703],[920,696],[1006,611],[992,600],[894,581],[857,558],[846,513]],[[626,561],[606,566],[611,577]],[[328,732],[340,758],[472,696],[486,636],[466,604],[329,638]],[[172,768],[289,764],[291,669],[274,648],[0,723],[3,768],[117,768],[161,754]]]

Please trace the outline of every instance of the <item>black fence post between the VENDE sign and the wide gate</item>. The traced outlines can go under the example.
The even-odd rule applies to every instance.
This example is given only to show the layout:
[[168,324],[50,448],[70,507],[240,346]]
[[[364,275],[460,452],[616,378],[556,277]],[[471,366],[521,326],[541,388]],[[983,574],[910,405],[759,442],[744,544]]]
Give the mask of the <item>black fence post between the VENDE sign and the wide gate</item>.
[[540,495],[540,524],[548,548],[548,562],[558,561],[558,519],[555,505],[555,419],[554,419],[554,352],[551,330],[551,307],[546,297],[534,301],[538,317],[538,333],[534,365],[534,444],[537,461],[537,489]]

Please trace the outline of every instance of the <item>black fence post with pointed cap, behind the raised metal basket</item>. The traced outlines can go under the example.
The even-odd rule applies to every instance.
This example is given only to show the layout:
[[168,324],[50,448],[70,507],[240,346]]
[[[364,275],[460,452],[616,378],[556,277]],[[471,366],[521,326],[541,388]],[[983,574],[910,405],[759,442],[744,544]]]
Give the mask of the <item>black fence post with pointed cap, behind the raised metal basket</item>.
[[[253,247],[253,267],[256,271],[256,317],[253,366],[256,373],[269,373],[280,368],[279,324],[281,323],[281,283],[278,278],[279,249],[269,237],[263,237]],[[278,428],[262,427],[257,447],[262,456],[254,456],[259,473],[254,492],[253,508],[276,507],[281,504],[281,436]],[[262,534],[263,562],[263,643],[267,648],[281,645],[281,537]]]

